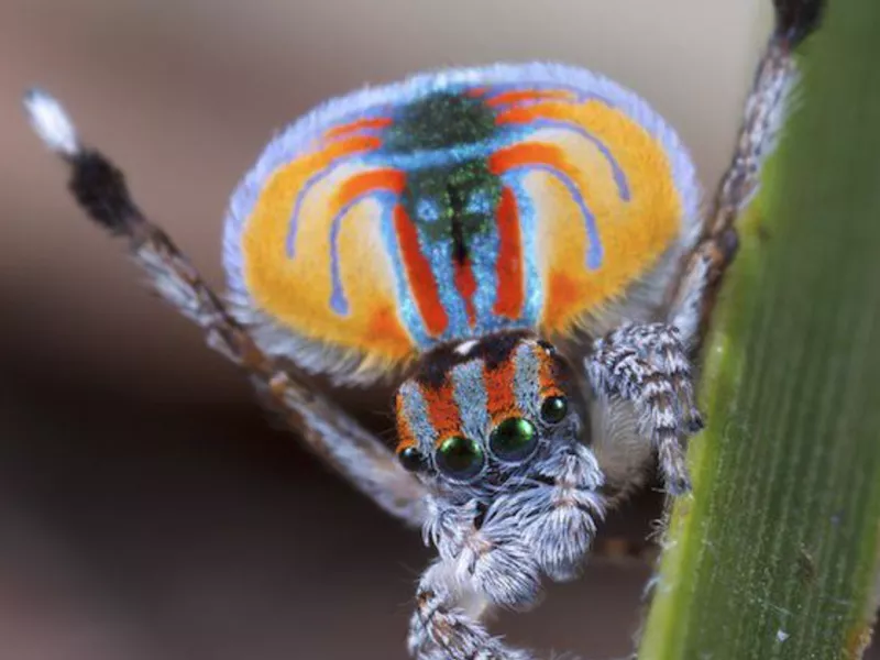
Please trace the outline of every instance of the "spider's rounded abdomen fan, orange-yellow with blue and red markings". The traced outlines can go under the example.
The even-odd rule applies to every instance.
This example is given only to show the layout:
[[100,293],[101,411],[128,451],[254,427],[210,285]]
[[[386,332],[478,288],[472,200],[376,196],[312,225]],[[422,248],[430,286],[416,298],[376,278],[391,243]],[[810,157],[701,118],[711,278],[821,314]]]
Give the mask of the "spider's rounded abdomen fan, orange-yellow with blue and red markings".
[[570,333],[694,242],[697,186],[635,94],[553,64],[329,101],[233,195],[224,263],[266,350],[366,381],[440,343]]

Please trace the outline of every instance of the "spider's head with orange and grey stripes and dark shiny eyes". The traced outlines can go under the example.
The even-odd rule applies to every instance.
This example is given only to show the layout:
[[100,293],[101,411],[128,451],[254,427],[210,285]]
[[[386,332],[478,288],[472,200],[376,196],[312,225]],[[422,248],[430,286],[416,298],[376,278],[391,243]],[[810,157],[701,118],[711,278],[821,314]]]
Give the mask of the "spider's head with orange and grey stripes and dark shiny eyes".
[[526,332],[439,348],[397,392],[397,455],[450,495],[527,477],[579,440],[566,372],[552,345]]

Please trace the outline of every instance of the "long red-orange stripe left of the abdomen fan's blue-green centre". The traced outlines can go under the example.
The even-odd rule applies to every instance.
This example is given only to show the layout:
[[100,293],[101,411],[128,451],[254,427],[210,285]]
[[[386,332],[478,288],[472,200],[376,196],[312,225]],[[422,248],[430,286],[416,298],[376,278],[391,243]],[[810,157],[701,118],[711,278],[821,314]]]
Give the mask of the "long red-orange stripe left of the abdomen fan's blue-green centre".
[[431,264],[421,253],[416,226],[400,204],[394,208],[394,228],[400,244],[407,280],[416,298],[416,307],[425,321],[428,334],[438,337],[449,322],[447,310],[440,301],[440,292]]

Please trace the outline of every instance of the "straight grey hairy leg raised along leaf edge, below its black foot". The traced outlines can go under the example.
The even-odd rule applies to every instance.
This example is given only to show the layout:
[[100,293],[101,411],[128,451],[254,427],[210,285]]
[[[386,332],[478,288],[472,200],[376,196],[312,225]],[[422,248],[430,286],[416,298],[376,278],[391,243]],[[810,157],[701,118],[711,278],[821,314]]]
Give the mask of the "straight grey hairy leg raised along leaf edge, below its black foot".
[[706,229],[691,252],[672,297],[670,322],[694,350],[703,336],[718,284],[737,251],[736,219],[752,199],[772,152],[796,79],[793,35],[776,34],[761,58],[730,164],[722,177]]

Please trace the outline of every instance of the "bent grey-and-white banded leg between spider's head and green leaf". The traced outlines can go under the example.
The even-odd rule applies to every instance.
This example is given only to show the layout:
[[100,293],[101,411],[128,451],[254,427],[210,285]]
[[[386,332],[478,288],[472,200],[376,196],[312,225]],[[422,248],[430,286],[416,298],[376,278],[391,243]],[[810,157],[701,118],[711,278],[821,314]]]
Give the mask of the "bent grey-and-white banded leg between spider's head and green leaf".
[[694,402],[691,363],[678,328],[627,324],[593,342],[587,378],[603,406],[630,403],[638,437],[657,451],[667,490],[690,490],[682,441],[703,428]]

